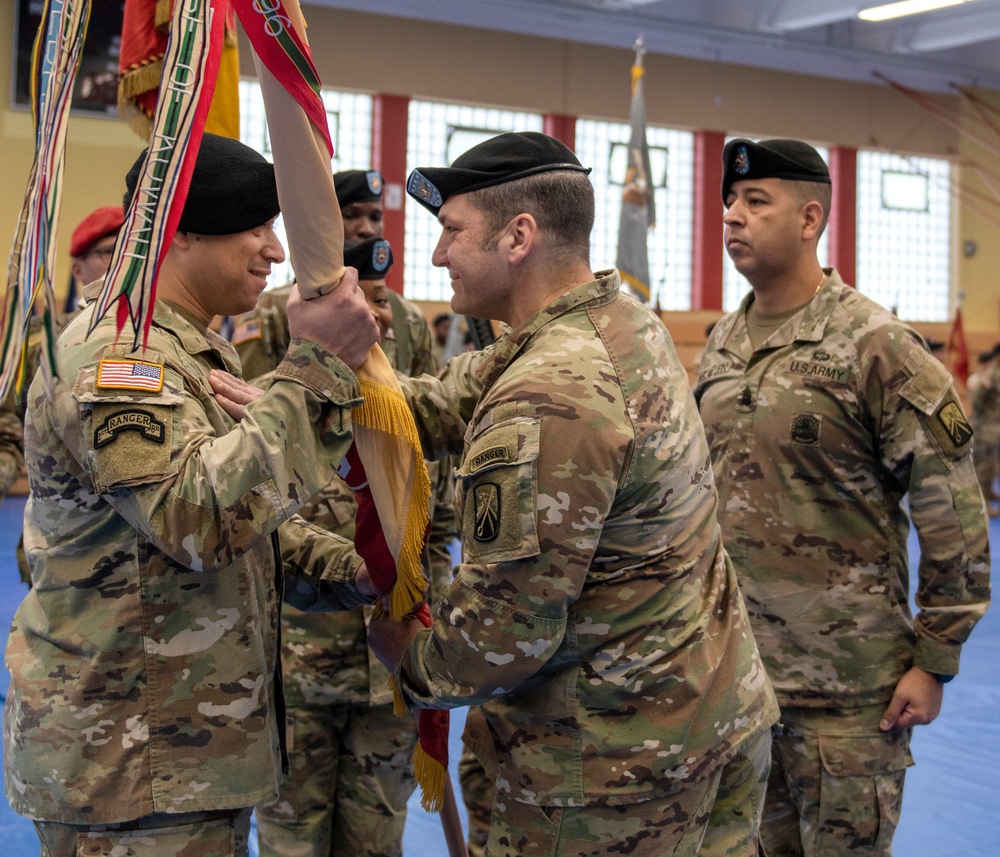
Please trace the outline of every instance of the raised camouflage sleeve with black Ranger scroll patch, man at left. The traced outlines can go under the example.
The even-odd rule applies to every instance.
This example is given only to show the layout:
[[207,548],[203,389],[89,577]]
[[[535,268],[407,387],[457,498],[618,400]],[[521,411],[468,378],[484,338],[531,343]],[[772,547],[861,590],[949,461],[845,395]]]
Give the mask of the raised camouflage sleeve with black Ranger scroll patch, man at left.
[[[85,365],[74,391],[81,463],[143,537],[196,571],[229,565],[334,478],[359,401],[354,374],[302,340],[235,426],[183,358],[166,363],[155,396],[95,392],[95,373]],[[148,432],[114,433],[140,423]]]

